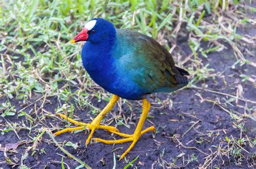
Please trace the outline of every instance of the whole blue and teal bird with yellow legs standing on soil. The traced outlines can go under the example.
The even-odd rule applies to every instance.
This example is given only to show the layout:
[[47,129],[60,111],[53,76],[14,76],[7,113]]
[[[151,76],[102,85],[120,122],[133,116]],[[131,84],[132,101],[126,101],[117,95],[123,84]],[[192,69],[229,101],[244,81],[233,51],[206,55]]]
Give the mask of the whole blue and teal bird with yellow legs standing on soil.
[[[131,142],[129,148],[120,156],[123,159],[144,133],[156,132],[154,126],[143,130],[150,110],[146,96],[152,93],[171,93],[183,88],[190,82],[187,77],[190,74],[177,67],[169,51],[153,38],[129,29],[116,29],[103,18],[93,18],[86,22],[82,31],[70,43],[79,41],[86,41],[81,53],[86,72],[93,81],[111,93],[112,98],[91,123],[78,122],[64,114],[58,114],[78,126],[57,131],[54,135],[84,129],[86,126],[91,131],[86,146],[91,139],[105,144]],[[142,100],[142,115],[133,134],[122,133],[114,126],[100,124],[120,97],[126,100]],[[104,129],[123,138],[92,138],[96,129]]]

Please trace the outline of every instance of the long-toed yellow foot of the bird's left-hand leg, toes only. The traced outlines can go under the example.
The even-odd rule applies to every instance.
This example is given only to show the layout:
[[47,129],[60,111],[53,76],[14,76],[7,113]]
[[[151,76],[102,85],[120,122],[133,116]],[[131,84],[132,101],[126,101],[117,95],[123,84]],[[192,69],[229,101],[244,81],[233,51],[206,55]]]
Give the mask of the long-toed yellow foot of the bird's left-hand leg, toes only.
[[57,131],[54,133],[55,136],[58,136],[64,132],[68,132],[68,131],[75,131],[75,130],[81,130],[81,129],[84,129],[84,128],[88,128],[91,130],[91,133],[90,135],[88,136],[87,140],[86,140],[86,145],[88,145],[90,143],[90,140],[93,136],[93,133],[95,132],[96,129],[104,129],[104,130],[107,130],[109,132],[112,132],[112,133],[119,133],[119,130],[113,126],[107,126],[107,125],[99,125],[100,124],[100,121],[92,121],[91,123],[83,123],[83,122],[78,122],[78,121],[75,121],[63,114],[57,114],[59,115],[60,117],[66,119],[67,121],[73,123],[73,124],[76,124],[76,125],[79,125],[75,128],[66,128],[66,129],[63,129],[63,130],[60,130],[60,131]]

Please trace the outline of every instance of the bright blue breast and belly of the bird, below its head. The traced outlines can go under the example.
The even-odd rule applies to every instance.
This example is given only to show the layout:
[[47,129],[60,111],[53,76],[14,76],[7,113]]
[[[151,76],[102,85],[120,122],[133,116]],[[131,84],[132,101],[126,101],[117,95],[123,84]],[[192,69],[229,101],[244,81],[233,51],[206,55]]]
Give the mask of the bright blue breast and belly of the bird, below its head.
[[83,66],[92,80],[110,93],[128,100],[140,100],[145,92],[120,68],[120,61],[113,53],[120,46],[116,42],[114,39],[96,45],[87,41],[81,54]]

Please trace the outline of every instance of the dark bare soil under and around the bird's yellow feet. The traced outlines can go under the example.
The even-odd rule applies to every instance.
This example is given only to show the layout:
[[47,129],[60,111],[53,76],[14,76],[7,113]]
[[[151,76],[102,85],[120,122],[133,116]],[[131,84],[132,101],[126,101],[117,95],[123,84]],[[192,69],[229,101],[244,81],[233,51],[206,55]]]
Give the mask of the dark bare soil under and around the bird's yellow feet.
[[[249,33],[253,32],[255,33],[255,29]],[[186,42],[181,42],[179,46],[180,51],[183,51],[183,55],[190,54],[190,48]],[[204,88],[204,86],[207,85],[207,89],[236,95],[238,85],[241,84],[243,89],[242,97],[256,102],[256,90],[253,84],[248,81],[241,82],[241,78],[239,78],[241,74],[255,75],[255,68],[248,65],[236,65],[235,68],[232,68],[234,55],[231,47],[226,46],[228,47],[227,50],[220,53],[208,54],[208,58],[202,59],[204,63],[207,62],[210,64],[210,68],[215,69],[214,73],[216,73],[217,76],[215,76],[214,79],[207,79],[204,82],[198,83],[197,87],[201,86],[201,88]],[[255,61],[255,57],[247,59]],[[35,100],[39,97],[41,96],[34,96]],[[152,103],[149,116],[153,117],[147,119],[144,128],[153,124],[158,130],[155,137],[153,137],[154,135],[152,133],[143,135],[133,147],[132,151],[127,154],[126,158],[129,159],[129,161],[139,156],[132,167],[162,168],[165,166],[196,168],[202,166],[234,168],[239,166],[253,167],[253,164],[255,164],[255,158],[253,159],[252,154],[255,153],[256,150],[253,148],[250,149],[248,146],[245,147],[245,150],[249,153],[244,155],[245,160],[242,160],[240,163],[237,161],[239,157],[229,158],[225,153],[221,153],[221,149],[228,149],[225,137],[230,139],[232,137],[255,138],[255,121],[250,118],[244,118],[244,120],[246,119],[244,126],[246,130],[241,133],[241,130],[234,125],[234,123],[236,123],[234,120],[235,117],[232,118],[230,114],[230,111],[234,112],[234,114],[235,112],[242,114],[245,110],[240,108],[239,105],[246,104],[247,107],[255,107],[254,103],[245,103],[245,101],[238,100],[235,106],[225,104],[226,108],[224,108],[221,104],[218,104],[217,101],[224,104],[230,97],[200,88],[193,88],[193,86],[172,94],[156,94],[148,98]],[[157,98],[165,102],[158,104]],[[44,105],[44,109],[55,114],[55,109],[58,104],[57,98],[49,97],[48,100],[50,100],[50,102]],[[0,98],[1,103],[5,101],[6,98]],[[18,100],[10,100],[10,102],[16,105],[16,111],[26,107],[26,105]],[[103,108],[107,102],[98,102],[96,99],[93,99],[92,103],[95,107]],[[128,118],[131,124],[130,129],[125,125],[117,126],[120,131],[125,133],[132,133],[134,131],[142,109],[141,102],[131,101],[130,103],[133,105],[132,111],[130,111],[126,104],[122,105],[123,116],[126,118],[132,117]],[[42,103],[37,102],[37,104],[40,106]],[[119,106],[116,105],[111,111],[111,114],[106,116],[106,119],[111,118],[113,114],[119,114],[120,107],[120,104]],[[24,111],[29,114],[30,110],[31,107],[28,107]],[[86,113],[88,111],[90,111],[88,108],[81,110],[75,109],[74,114],[80,121],[90,122],[91,114]],[[251,114],[253,114],[253,112],[251,112]],[[32,115],[32,118],[35,118],[35,116],[35,114]],[[17,118],[17,116],[6,116],[4,118],[0,116],[1,129],[3,129],[6,123],[28,123],[24,121],[25,117]],[[59,126],[59,128],[64,128],[65,124],[65,121],[61,121],[60,118],[56,116],[45,116],[44,121],[38,122],[36,128],[47,128],[48,126],[56,125]],[[114,124],[115,123],[112,123],[111,125]],[[28,132],[28,129],[21,129],[17,131],[17,133],[10,131],[4,135],[0,135],[0,147],[5,147],[8,143],[18,143],[21,140],[31,140],[28,136]],[[35,137],[36,135],[32,134],[31,136]],[[55,139],[60,144],[68,141],[76,143],[78,145],[77,149],[73,149],[71,146],[64,146],[64,148],[92,168],[112,168],[114,165],[113,154],[115,154],[117,159],[116,168],[122,168],[127,165],[124,160],[118,161],[117,157],[129,147],[130,143],[105,145],[103,143],[92,142],[89,146],[85,147],[87,136],[88,133],[84,132],[64,133],[63,135],[55,137]],[[113,139],[113,137],[116,139],[119,138],[117,136],[111,136],[104,130],[97,130],[94,137],[104,139]],[[20,164],[21,161],[19,161],[19,159],[22,159],[22,156],[24,157],[25,151],[32,145],[33,143],[31,142],[24,143],[19,145],[16,151],[8,151],[5,155],[4,150],[0,149],[0,168],[12,167],[12,165],[6,163],[5,156],[9,157],[13,162],[17,159],[17,164]],[[44,149],[45,153],[39,151],[42,149]],[[30,168],[60,168],[62,156],[64,157],[64,163],[68,164],[69,167],[75,168],[80,165],[76,160],[69,158],[58,149],[46,132],[38,143],[36,150],[38,151],[35,151],[33,156],[24,157],[22,161],[24,165]],[[29,152],[29,154],[31,154],[31,152]],[[207,160],[212,160],[212,163],[206,163]],[[14,168],[17,167],[18,165],[14,165]]]

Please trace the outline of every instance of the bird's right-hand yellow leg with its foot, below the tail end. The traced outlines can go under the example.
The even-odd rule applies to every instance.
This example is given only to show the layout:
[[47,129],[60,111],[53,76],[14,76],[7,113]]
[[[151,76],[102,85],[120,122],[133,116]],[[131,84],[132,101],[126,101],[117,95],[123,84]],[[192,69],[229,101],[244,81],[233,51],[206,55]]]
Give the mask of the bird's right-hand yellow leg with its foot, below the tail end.
[[93,140],[99,141],[99,142],[103,142],[105,144],[119,144],[119,143],[125,143],[125,142],[132,142],[132,144],[130,145],[130,147],[122,154],[122,156],[120,157],[120,159],[123,159],[124,156],[132,149],[132,147],[136,144],[136,142],[138,141],[139,137],[142,136],[144,133],[148,132],[148,131],[153,131],[155,132],[156,129],[154,128],[154,126],[151,126],[145,130],[142,131],[143,128],[143,124],[146,120],[147,114],[149,113],[150,110],[150,103],[144,99],[143,100],[143,111],[142,111],[142,116],[140,116],[139,122],[137,124],[137,127],[133,133],[133,135],[127,135],[125,133],[120,133],[120,132],[116,132],[116,131],[110,131],[116,135],[122,136],[122,137],[126,137],[124,139],[118,139],[118,140],[104,140],[104,139],[100,139],[100,138],[94,138]]

